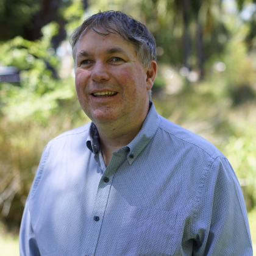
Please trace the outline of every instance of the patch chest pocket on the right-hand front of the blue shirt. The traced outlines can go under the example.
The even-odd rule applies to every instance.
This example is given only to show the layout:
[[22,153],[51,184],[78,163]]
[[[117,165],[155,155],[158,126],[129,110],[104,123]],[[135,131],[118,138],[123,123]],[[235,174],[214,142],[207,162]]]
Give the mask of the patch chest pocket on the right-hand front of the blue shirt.
[[177,213],[129,207],[124,213],[117,255],[171,255]]

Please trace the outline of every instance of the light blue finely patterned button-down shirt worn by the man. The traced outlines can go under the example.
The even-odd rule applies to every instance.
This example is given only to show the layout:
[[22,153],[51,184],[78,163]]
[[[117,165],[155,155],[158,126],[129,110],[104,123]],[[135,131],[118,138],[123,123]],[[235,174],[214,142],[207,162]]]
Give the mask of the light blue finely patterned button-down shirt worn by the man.
[[243,194],[227,158],[151,105],[108,166],[93,123],[44,149],[20,255],[249,255]]

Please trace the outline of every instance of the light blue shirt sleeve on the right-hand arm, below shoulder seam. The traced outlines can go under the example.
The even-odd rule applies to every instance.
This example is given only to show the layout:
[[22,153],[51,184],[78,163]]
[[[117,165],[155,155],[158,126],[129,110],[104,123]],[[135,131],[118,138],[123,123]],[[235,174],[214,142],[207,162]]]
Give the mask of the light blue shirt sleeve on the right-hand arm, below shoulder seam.
[[201,187],[194,219],[193,255],[252,256],[243,193],[226,158],[216,158]]

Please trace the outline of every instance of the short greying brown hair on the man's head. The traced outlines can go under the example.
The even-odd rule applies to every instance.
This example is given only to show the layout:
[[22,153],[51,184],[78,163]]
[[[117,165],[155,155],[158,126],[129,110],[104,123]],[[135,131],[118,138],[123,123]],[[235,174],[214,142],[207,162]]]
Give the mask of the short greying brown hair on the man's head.
[[[69,38],[74,60],[76,60],[75,48],[77,41],[90,29],[102,36],[110,33],[119,34],[124,40],[132,44],[137,52],[138,60],[144,68],[151,65],[151,60],[157,60],[155,38],[149,32],[148,27],[134,20],[132,16],[112,10],[99,11],[88,17],[82,25],[74,30]],[[148,94],[151,100],[152,91],[149,90]]]

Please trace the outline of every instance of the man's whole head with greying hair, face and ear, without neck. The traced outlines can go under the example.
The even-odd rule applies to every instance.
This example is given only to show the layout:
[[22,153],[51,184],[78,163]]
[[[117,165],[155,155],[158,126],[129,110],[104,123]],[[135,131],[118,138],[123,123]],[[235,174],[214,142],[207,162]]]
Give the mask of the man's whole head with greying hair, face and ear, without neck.
[[71,44],[77,98],[87,116],[96,126],[142,124],[157,70],[146,26],[121,12],[98,13],[74,31]]

